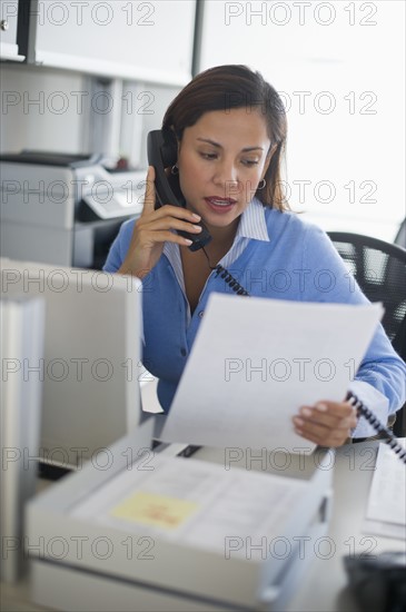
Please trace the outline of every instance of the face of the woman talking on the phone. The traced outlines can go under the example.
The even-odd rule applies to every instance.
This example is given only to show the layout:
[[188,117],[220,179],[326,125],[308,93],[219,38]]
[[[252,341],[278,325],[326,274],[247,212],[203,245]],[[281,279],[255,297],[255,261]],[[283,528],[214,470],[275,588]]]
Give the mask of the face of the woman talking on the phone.
[[227,227],[244,213],[269,165],[270,139],[257,110],[205,112],[179,145],[180,188],[208,226]]

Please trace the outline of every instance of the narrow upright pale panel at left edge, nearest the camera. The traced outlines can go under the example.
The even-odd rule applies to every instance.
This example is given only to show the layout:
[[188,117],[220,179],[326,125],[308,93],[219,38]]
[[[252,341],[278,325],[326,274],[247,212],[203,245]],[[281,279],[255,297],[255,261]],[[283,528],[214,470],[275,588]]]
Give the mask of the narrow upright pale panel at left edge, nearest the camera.
[[1,580],[19,578],[23,566],[22,517],[33,494],[39,447],[44,302],[2,297],[1,309]]

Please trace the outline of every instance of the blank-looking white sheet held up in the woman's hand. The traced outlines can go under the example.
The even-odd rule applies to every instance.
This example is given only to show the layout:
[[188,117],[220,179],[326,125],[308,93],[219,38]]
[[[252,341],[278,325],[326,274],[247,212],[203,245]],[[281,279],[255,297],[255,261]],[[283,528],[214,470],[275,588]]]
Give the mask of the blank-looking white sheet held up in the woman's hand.
[[382,315],[380,304],[212,294],[161,440],[311,452],[291,417],[344,399]]

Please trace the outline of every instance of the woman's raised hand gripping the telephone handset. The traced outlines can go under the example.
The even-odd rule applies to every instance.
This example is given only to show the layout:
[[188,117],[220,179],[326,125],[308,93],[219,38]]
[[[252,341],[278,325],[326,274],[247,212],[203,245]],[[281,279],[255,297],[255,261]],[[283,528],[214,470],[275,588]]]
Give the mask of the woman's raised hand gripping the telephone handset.
[[147,174],[147,187],[143,196],[143,209],[137,219],[131,236],[127,256],[122,261],[119,274],[130,274],[143,278],[158,263],[165,243],[175,243],[189,246],[191,240],[175,234],[174,230],[184,230],[199,234],[201,227],[196,225],[200,217],[187,208],[171,206],[168,203],[156,209],[155,170],[150,166]]

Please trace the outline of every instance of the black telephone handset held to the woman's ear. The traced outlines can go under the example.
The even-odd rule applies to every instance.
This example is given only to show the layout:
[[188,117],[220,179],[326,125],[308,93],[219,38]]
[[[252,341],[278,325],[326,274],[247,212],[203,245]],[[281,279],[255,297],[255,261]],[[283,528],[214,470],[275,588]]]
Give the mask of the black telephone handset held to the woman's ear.
[[[148,164],[155,168],[155,188],[157,195],[156,208],[166,204],[186,208],[186,200],[180,190],[179,178],[167,176],[165,169],[172,167],[178,158],[178,142],[172,130],[152,130],[148,134],[147,140]],[[178,230],[179,236],[191,240],[190,250],[198,250],[205,247],[211,236],[202,223],[200,234],[189,234]]]

